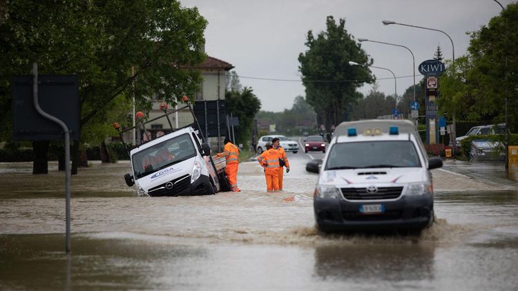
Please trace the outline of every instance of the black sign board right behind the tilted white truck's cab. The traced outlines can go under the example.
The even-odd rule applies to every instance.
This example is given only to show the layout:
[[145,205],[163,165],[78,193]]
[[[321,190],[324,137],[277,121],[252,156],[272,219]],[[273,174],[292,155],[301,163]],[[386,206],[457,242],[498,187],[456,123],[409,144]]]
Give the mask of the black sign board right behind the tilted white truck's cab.
[[227,135],[224,100],[196,101],[193,111],[205,137]]

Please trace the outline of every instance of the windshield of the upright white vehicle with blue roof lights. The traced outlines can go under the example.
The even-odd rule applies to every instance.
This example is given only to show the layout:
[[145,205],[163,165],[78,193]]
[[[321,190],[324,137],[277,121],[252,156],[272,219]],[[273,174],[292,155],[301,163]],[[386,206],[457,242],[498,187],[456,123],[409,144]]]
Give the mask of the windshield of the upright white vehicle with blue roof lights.
[[335,143],[325,164],[325,170],[404,167],[421,167],[411,141]]

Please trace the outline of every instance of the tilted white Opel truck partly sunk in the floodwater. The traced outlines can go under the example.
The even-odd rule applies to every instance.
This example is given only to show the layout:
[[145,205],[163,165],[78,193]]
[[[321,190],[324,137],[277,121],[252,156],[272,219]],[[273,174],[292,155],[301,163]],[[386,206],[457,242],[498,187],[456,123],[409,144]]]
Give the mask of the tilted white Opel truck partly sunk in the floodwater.
[[[188,104],[178,110],[186,107],[191,109]],[[211,157],[209,144],[203,143],[192,126],[173,130],[128,153],[133,174],[124,175],[124,179],[128,186],[135,185],[139,196],[204,195],[230,190],[224,174],[225,158]]]

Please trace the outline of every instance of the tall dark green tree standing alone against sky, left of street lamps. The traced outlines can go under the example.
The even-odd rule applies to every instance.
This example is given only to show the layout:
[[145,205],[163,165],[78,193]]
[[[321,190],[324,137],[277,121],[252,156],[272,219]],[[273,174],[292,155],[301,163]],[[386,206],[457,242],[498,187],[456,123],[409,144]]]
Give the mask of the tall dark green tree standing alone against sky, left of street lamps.
[[306,101],[313,106],[318,119],[326,128],[338,124],[352,111],[352,106],[361,97],[356,88],[364,82],[372,83],[374,78],[364,66],[349,66],[349,61],[372,65],[372,59],[345,30],[345,19],[335,23],[327,17],[327,30],[315,38],[307,33],[305,45],[308,50],[300,53],[298,61],[306,88]]

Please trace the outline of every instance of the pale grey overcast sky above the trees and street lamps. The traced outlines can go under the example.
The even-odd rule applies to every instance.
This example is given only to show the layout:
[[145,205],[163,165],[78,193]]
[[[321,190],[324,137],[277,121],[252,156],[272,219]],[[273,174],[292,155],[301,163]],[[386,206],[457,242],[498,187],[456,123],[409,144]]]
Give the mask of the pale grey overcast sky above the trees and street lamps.
[[[441,32],[406,26],[383,26],[392,20],[443,30],[454,44],[455,58],[466,54],[468,31],[479,30],[501,8],[493,0],[180,0],[184,7],[198,7],[209,21],[205,51],[231,63],[242,86],[253,88],[262,110],[279,112],[291,108],[296,96],[305,96],[300,81],[298,54],[305,52],[307,32],[316,36],[325,30],[326,17],[345,19],[354,39],[371,39],[409,48],[415,57],[416,83],[422,75],[417,66],[432,59],[437,46],[443,57],[452,58],[452,45]],[[511,0],[499,0],[506,7]],[[363,50],[373,66],[388,68],[396,75],[397,94],[413,83],[412,55],[405,48],[364,42]],[[394,94],[394,78],[386,70],[371,69],[378,90]],[[400,78],[401,77],[401,78]],[[260,78],[260,79],[256,79]],[[382,79],[383,78],[383,79]],[[385,79],[386,78],[386,79]],[[280,79],[287,81],[271,81]],[[360,89],[367,94],[372,85]]]

